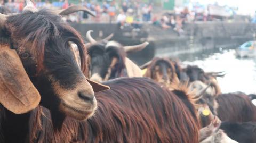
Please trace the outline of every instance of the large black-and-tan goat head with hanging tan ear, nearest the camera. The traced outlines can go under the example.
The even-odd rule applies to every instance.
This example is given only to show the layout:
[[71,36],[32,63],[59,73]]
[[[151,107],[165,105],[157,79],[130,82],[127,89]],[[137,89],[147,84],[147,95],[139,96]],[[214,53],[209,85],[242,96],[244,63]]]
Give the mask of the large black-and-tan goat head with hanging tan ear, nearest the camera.
[[[97,108],[94,92],[109,88],[85,78],[82,71],[86,68],[86,49],[82,37],[61,21],[60,15],[78,10],[91,12],[83,6],[37,10],[31,1],[26,2],[22,13],[0,14],[0,103],[5,117],[10,119],[1,125],[5,142],[12,142],[13,137],[16,142],[25,142],[30,111],[38,104],[52,113],[59,111],[60,116],[84,120]],[[76,64],[70,41],[78,47],[81,68]]]

